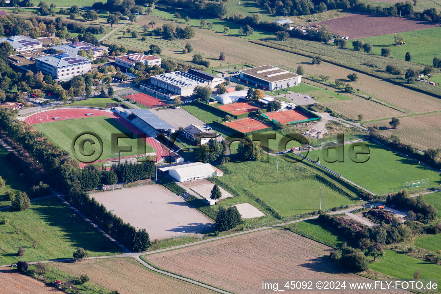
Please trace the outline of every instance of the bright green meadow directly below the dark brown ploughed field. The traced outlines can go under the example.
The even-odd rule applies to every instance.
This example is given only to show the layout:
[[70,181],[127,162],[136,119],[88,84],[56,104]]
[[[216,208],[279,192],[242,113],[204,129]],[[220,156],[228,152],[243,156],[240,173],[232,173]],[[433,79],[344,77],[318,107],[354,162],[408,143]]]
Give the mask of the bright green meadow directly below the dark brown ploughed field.
[[[406,52],[410,52],[413,62],[433,66],[432,60],[435,54],[438,54],[438,46],[441,42],[441,27],[434,27],[424,30],[415,30],[399,33],[403,36],[406,44],[397,46],[393,38],[394,34],[363,38],[365,43],[371,43],[374,48],[372,53],[381,55],[381,48],[388,47],[391,50],[391,56],[404,60]],[[352,41],[348,41],[347,48],[352,49]],[[424,44],[424,45],[422,45]],[[405,71],[405,70],[404,70]]]

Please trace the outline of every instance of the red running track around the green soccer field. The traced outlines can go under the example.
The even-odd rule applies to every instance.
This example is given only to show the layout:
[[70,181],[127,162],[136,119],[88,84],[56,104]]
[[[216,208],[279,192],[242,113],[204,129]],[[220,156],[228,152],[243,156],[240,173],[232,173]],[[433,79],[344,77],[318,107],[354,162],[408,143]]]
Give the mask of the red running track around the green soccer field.
[[[131,132],[137,134],[137,135],[145,135],[146,136],[146,143],[152,146],[154,149],[156,149],[156,157],[154,158],[154,161],[157,162],[161,158],[166,158],[166,156],[170,156],[170,151],[161,145],[159,141],[156,139],[149,137],[148,134],[145,134],[142,130],[139,130],[137,127],[135,127],[133,124],[128,122],[126,119],[124,119],[121,115],[115,113],[115,112],[108,112],[104,110],[98,110],[98,109],[90,109],[90,108],[61,108],[61,109],[52,109],[45,112],[39,112],[33,115],[28,116],[24,121],[29,124],[35,124],[35,123],[41,123],[39,119],[43,119],[43,123],[53,122],[57,120],[64,120],[66,117],[75,116],[75,119],[77,118],[85,118],[85,117],[93,117],[86,116],[86,113],[93,113],[93,116],[101,116],[101,115],[107,115],[108,117],[111,117],[112,119],[116,119],[118,123],[122,124],[124,127],[127,128],[127,130],[130,130]],[[61,117],[61,119],[54,120],[52,118],[54,117]],[[139,156],[139,155],[138,155]],[[121,159],[124,158],[131,158],[136,156],[123,156]],[[103,162],[103,161],[111,161],[118,158],[110,158],[105,160],[97,160],[95,162]],[[86,164],[80,163],[80,167],[84,167]]]

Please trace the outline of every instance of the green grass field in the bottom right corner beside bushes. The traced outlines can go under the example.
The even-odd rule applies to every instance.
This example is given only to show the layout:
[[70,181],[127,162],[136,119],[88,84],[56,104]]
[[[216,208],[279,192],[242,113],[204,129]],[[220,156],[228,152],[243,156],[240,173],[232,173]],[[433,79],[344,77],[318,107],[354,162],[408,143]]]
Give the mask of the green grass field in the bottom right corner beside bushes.
[[[441,267],[415,257],[393,250],[385,250],[386,256],[369,264],[377,272],[382,272],[397,279],[413,279],[416,270],[421,273],[420,279],[439,279]],[[439,288],[438,282],[438,288]]]

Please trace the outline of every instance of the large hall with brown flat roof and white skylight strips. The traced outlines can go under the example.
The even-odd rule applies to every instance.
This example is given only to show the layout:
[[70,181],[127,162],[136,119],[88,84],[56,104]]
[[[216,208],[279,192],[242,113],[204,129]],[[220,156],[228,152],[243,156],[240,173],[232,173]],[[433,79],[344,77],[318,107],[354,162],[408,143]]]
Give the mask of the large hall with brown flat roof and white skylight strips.
[[297,86],[302,76],[272,65],[262,65],[240,71],[239,79],[251,85],[257,84],[258,88],[268,91]]

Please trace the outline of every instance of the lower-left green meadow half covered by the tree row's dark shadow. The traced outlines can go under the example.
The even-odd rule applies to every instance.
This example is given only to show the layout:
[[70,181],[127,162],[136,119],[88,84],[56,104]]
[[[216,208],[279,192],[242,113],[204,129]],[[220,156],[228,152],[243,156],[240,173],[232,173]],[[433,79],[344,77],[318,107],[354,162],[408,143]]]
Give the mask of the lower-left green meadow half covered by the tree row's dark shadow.
[[[9,208],[1,214],[10,222],[0,226],[0,264],[71,258],[77,247],[88,250],[90,256],[121,252],[56,197],[32,202],[26,211]],[[37,248],[32,247],[34,240]],[[22,257],[16,254],[19,246],[26,250]]]

